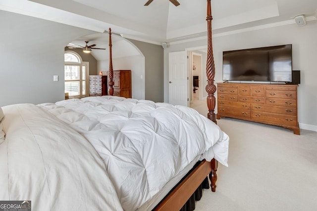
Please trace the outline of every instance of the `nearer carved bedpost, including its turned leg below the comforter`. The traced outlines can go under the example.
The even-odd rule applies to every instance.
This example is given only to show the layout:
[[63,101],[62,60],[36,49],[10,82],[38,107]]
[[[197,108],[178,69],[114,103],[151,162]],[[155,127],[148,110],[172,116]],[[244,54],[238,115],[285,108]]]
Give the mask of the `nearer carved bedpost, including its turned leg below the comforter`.
[[[207,34],[208,34],[208,51],[207,51],[207,65],[206,65],[206,74],[208,79],[208,84],[206,86],[206,91],[208,93],[207,97],[207,106],[209,113],[207,115],[208,119],[217,124],[216,115],[214,114],[214,107],[216,105],[216,98],[214,97],[214,92],[216,91],[216,86],[214,85],[214,61],[213,61],[213,52],[212,52],[212,33],[211,33],[211,0],[207,0]],[[216,181],[217,181],[217,168],[218,161],[215,159],[211,160],[211,173],[209,178],[211,180],[211,191],[216,191]]]

